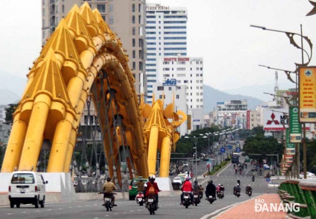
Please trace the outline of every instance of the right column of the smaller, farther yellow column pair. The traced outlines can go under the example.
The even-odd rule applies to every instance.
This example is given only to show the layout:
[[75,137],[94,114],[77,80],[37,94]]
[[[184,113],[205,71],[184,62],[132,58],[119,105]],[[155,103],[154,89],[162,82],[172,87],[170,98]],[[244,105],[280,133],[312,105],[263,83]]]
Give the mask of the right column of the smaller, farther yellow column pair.
[[170,136],[167,135],[163,138],[163,143],[161,145],[161,156],[160,156],[160,169],[159,169],[159,176],[160,177],[168,177],[169,176],[169,164],[170,164],[170,153],[171,153],[171,146],[170,146]]

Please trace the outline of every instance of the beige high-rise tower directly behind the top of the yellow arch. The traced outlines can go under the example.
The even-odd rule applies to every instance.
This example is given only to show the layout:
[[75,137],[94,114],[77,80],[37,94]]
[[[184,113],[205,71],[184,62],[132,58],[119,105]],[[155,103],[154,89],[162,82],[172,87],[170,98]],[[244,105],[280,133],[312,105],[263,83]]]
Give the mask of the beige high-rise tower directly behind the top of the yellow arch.
[[42,44],[74,5],[80,7],[85,2],[92,10],[98,9],[111,30],[121,38],[128,64],[134,69],[136,91],[146,93],[145,0],[42,0]]

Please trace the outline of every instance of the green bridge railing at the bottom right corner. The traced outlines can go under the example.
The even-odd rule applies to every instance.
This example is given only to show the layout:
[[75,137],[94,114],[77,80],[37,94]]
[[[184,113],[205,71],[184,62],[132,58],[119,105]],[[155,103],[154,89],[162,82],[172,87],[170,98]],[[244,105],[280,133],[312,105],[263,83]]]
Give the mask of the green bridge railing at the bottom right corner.
[[278,194],[284,204],[297,203],[300,210],[288,211],[291,218],[316,218],[316,181],[291,179],[282,182]]

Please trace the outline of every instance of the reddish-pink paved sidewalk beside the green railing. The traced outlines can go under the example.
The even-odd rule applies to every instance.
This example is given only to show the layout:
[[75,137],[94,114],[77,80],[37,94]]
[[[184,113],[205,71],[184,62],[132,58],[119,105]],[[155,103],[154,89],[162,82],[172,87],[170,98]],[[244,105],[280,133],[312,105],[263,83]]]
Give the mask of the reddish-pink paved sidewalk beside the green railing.
[[278,194],[264,194],[259,196],[256,199],[251,199],[246,202],[243,202],[239,205],[236,205],[227,211],[219,214],[218,216],[212,217],[216,219],[253,219],[253,218],[274,218],[274,219],[284,219],[286,217],[286,212],[255,212],[255,200],[264,200],[270,210],[270,203],[278,204],[281,202]]

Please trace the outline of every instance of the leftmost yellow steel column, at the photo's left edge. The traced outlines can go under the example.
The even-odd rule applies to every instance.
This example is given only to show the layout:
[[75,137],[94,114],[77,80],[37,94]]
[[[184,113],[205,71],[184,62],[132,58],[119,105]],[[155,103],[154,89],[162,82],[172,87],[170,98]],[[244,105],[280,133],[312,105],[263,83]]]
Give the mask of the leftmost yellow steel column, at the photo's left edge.
[[2,164],[2,173],[13,172],[19,165],[25,133],[27,133],[27,123],[20,120],[19,116],[20,114],[17,114],[14,118],[10,139]]

